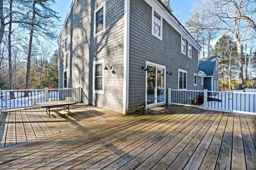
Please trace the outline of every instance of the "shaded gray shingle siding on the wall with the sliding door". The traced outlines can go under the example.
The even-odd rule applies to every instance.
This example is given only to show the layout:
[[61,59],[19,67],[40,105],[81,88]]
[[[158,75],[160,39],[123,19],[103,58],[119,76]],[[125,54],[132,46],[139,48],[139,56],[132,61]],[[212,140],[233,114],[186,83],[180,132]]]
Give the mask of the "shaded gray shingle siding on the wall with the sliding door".
[[130,0],[130,69],[129,111],[145,107],[146,72],[141,69],[146,61],[166,66],[173,75],[166,75],[167,88],[178,89],[178,69],[187,71],[187,89],[202,90],[200,77],[194,86],[194,73],[198,71],[198,50],[192,46],[192,59],[181,53],[181,35],[163,18],[162,41],[152,35],[152,8],[144,0]]

